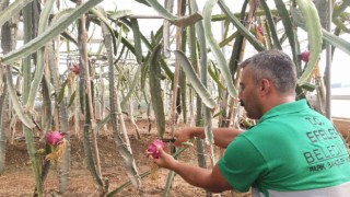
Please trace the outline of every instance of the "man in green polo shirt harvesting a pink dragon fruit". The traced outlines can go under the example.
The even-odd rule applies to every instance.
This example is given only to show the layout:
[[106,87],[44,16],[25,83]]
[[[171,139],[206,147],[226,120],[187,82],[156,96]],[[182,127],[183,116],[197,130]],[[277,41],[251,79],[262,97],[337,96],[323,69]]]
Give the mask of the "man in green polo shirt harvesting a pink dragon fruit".
[[[211,170],[174,160],[163,150],[153,161],[214,193],[252,187],[253,196],[350,196],[348,148],[326,117],[305,100],[295,102],[292,60],[282,51],[267,50],[241,67],[238,97],[258,124],[246,131],[213,129],[215,144],[226,150]],[[177,131],[174,144],[202,134],[198,127]]]

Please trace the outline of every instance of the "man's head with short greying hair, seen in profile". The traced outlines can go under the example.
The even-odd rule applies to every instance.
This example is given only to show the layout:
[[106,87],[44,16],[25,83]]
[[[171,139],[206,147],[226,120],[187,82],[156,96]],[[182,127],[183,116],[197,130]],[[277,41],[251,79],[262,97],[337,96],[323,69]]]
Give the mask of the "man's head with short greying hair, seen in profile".
[[249,118],[259,119],[271,107],[295,96],[296,71],[279,50],[261,51],[241,63],[240,100]]

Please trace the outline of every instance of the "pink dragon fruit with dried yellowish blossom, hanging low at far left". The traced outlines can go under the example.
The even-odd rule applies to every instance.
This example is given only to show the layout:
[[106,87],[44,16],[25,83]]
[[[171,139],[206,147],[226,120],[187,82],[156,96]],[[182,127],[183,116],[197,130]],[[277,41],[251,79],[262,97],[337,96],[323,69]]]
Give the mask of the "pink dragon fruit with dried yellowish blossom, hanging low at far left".
[[65,139],[65,132],[58,130],[48,131],[45,135],[45,141],[50,146],[51,152],[45,157],[45,160],[51,163],[59,163],[66,150],[67,140]]

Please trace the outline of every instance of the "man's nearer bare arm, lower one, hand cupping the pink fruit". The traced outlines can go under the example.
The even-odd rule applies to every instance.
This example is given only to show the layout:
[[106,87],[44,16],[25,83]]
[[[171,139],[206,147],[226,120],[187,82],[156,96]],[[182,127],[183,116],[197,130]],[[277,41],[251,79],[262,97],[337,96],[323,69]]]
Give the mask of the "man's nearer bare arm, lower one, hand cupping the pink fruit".
[[218,164],[214,165],[212,170],[201,169],[199,166],[179,162],[172,155],[165,153],[162,149],[160,149],[160,158],[153,159],[156,165],[175,171],[187,183],[213,193],[233,189],[228,181],[222,176]]

